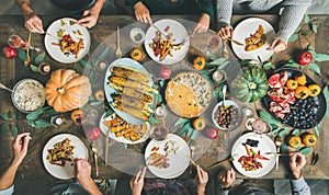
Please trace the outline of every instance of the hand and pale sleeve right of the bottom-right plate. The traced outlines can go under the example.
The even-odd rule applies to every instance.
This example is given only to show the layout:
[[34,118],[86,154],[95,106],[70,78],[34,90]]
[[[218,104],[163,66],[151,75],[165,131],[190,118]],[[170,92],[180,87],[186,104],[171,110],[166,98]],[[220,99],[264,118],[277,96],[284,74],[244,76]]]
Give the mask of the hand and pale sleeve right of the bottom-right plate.
[[309,186],[305,182],[303,175],[302,175],[302,169],[306,164],[305,156],[300,152],[292,152],[290,160],[290,168],[292,171],[292,193],[293,195],[308,195],[310,194]]

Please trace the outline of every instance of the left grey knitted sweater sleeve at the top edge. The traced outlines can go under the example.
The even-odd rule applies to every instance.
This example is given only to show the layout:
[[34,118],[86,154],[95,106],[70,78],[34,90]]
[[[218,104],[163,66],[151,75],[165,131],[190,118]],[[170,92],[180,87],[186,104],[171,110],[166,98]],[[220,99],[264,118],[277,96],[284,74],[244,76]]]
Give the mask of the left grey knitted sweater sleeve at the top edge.
[[234,0],[217,0],[217,23],[218,27],[230,25]]

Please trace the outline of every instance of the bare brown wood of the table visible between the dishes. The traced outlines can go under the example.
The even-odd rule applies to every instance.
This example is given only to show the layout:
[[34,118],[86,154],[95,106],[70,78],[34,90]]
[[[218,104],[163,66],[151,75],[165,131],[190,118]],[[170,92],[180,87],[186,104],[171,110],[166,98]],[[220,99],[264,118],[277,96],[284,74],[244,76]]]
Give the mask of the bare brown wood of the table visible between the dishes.
[[[44,25],[48,26],[52,21],[58,19],[60,16],[45,16]],[[184,19],[190,21],[195,21],[196,16],[163,16],[163,18],[171,18],[171,19]],[[232,18],[232,25],[236,25],[239,21],[247,18],[246,15],[235,15]],[[274,15],[262,15],[263,19],[269,21],[274,26],[277,26],[277,18]],[[161,18],[158,18],[161,19]],[[318,34],[315,36],[315,34],[310,33],[307,37],[310,41],[310,44],[316,49],[316,51],[321,53],[328,53],[328,36],[326,32],[328,28],[328,16],[327,15],[313,15],[311,21],[314,23],[318,24]],[[27,37],[27,32],[23,27],[23,18],[21,16],[1,16],[1,31],[0,31],[0,46],[4,46],[7,43],[7,38],[11,34],[19,34],[22,37]],[[138,24],[135,23],[135,19],[131,16],[109,16],[109,15],[101,15],[98,22],[98,25],[90,30],[90,35],[92,39],[92,45],[90,53],[93,53],[100,43],[105,41],[107,36],[112,35],[116,31],[116,24],[120,26],[126,26],[126,25],[141,25],[141,27],[147,28],[145,24]],[[133,24],[134,23],[134,24]],[[125,28],[122,30],[123,34],[125,32]],[[209,35],[214,35],[212,32],[209,32]],[[206,35],[204,35],[206,36]],[[32,43],[43,43],[44,35],[32,35]],[[110,46],[110,53],[111,55],[114,55],[115,47],[115,39],[110,38],[110,43],[106,43]],[[194,44],[204,44],[204,37],[203,35],[196,36]],[[302,46],[306,48],[307,42],[302,41]],[[193,44],[192,44],[193,45]],[[125,51],[127,53],[132,46],[125,46],[122,45]],[[126,47],[126,48],[125,48]],[[100,48],[99,48],[100,49]],[[198,48],[196,48],[198,49]],[[299,43],[294,42],[288,44],[288,48],[286,51],[276,54],[274,62],[279,62],[281,60],[285,60],[291,58],[291,55],[294,50],[299,49]],[[100,50],[99,50],[100,53]],[[231,54],[232,56],[232,54]],[[88,57],[86,58],[88,59]],[[48,55],[46,55],[45,61],[49,62],[52,65],[53,70],[58,68],[72,68],[80,72],[82,72],[82,67],[79,62],[72,64],[72,65],[61,65],[59,62],[54,61]],[[18,80],[21,80],[23,78],[34,78],[39,80],[43,83],[46,83],[46,81],[49,79],[48,76],[41,76],[36,72],[32,72],[30,68],[26,68],[22,65],[23,62],[19,59],[7,59],[3,56],[0,57],[0,81],[4,83],[5,85],[12,88],[14,83]],[[322,71],[322,79],[328,80],[328,62],[318,62],[321,66]],[[327,66],[326,66],[327,65]],[[327,73],[326,73],[327,72]],[[318,78],[318,80],[321,81],[321,78]],[[24,175],[25,179],[44,179],[52,181],[54,177],[49,175],[46,170],[43,167],[42,162],[42,150],[44,145],[47,142],[49,138],[52,138],[54,135],[60,134],[60,133],[70,133],[73,135],[77,135],[80,137],[87,146],[90,146],[88,140],[86,139],[83,135],[83,129],[81,126],[75,125],[69,119],[69,113],[61,114],[64,118],[66,118],[65,123],[60,125],[59,127],[49,127],[49,128],[42,128],[42,129],[35,129],[29,127],[29,125],[25,122],[25,114],[22,114],[18,112],[12,103],[11,103],[11,96],[9,92],[1,91],[0,93],[0,112],[7,113],[8,111],[13,111],[16,114],[16,121],[15,124],[19,126],[20,131],[31,131],[32,134],[32,141],[30,144],[29,153],[25,157],[22,165],[20,167],[20,173],[18,175]],[[103,107],[101,107],[102,110]],[[261,105],[259,106],[261,108]],[[167,118],[167,123],[171,123],[171,126],[174,124],[177,117]],[[1,121],[2,123],[2,121]],[[242,123],[243,124],[243,123]],[[329,179],[329,168],[328,163],[329,160],[326,158],[326,154],[328,154],[329,146],[326,141],[326,139],[329,138],[328,131],[325,129],[325,127],[329,125],[328,118],[325,118],[322,129],[320,131],[321,136],[319,137],[319,144],[315,147],[315,150],[320,154],[320,160],[316,164],[316,167],[311,167],[309,164],[306,165],[306,168],[303,171],[303,174],[307,179]],[[172,133],[174,133],[177,129],[171,129]],[[200,134],[195,141],[191,144],[191,148],[193,149],[193,159],[196,160],[197,163],[200,163],[202,167],[207,167],[212,164],[215,161],[225,159],[230,153],[230,148],[234,144],[234,141],[245,131],[243,125],[241,125],[238,129],[225,133],[220,131],[219,138],[215,140],[211,140],[206,138],[203,134]],[[5,168],[5,165],[10,162],[10,159],[12,157],[12,150],[9,149],[11,144],[12,137],[10,136],[9,131],[2,131],[1,130],[1,149],[0,149],[0,161],[1,163],[1,170]],[[112,177],[112,179],[123,179],[123,177],[131,177],[131,174],[134,174],[138,171],[144,164],[144,156],[140,153],[144,153],[145,145],[135,145],[135,146],[128,146],[125,148],[122,144],[117,144],[113,140],[110,140],[110,157],[112,160],[110,160],[111,165],[104,165],[103,161],[103,151],[102,151],[102,145],[103,145],[103,138],[99,139],[97,141],[98,146],[100,147],[99,154],[100,158],[100,177]],[[8,148],[8,149],[7,149]],[[124,152],[126,156],[114,156],[116,151],[135,151],[135,152]],[[90,152],[91,153],[91,152]],[[123,152],[118,152],[123,153]],[[91,159],[91,158],[90,158]],[[127,160],[128,159],[128,160]],[[129,161],[131,160],[131,161]],[[90,160],[91,163],[92,160]],[[124,162],[124,163],[123,163]],[[280,169],[277,171],[272,170],[268,175],[265,175],[265,179],[283,179],[287,177],[288,175],[288,167],[286,163],[286,159],[281,158]],[[225,164],[229,165],[229,164]],[[218,173],[218,170],[222,168],[216,168],[209,171],[211,176],[215,176]],[[93,171],[94,176],[94,171]],[[148,176],[151,176],[148,174]],[[192,177],[193,174],[190,174],[190,168],[188,171],[181,176],[181,177]],[[241,175],[238,175],[239,177],[243,177]]]

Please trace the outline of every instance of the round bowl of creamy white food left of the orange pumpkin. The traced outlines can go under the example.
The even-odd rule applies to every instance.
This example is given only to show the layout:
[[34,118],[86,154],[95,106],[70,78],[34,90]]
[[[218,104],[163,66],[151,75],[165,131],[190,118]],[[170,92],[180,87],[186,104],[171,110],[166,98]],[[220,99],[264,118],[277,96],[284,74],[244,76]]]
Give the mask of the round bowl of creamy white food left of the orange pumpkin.
[[39,110],[46,102],[44,85],[34,79],[20,80],[13,88],[11,100],[22,113]]

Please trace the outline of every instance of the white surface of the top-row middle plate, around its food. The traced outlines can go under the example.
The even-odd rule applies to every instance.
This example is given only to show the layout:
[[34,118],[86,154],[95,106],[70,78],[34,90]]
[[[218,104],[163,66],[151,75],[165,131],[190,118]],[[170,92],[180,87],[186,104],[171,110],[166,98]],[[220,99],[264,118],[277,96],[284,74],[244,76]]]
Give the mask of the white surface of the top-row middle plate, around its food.
[[[172,42],[172,44],[180,44],[189,36],[185,27],[181,23],[179,23],[174,20],[168,20],[168,19],[160,20],[160,21],[157,21],[155,23],[155,25],[159,30],[161,30],[162,33],[166,35],[168,33],[173,34],[174,42]],[[170,28],[168,32],[164,32],[164,28],[167,26],[169,26]],[[150,26],[147,30],[146,35],[145,35],[145,49],[146,49],[147,54],[149,55],[149,57],[152,58],[152,60],[155,60],[159,64],[163,64],[163,65],[172,65],[172,64],[175,64],[175,62],[182,60],[185,57],[185,55],[189,51],[190,39],[181,47],[180,50],[173,49],[172,57],[170,57],[168,55],[162,61],[160,61],[160,57],[159,56],[156,57],[154,50],[149,47],[149,44],[152,43],[152,38],[155,38],[155,36],[156,36],[156,32],[157,32],[157,30],[155,27]]]

